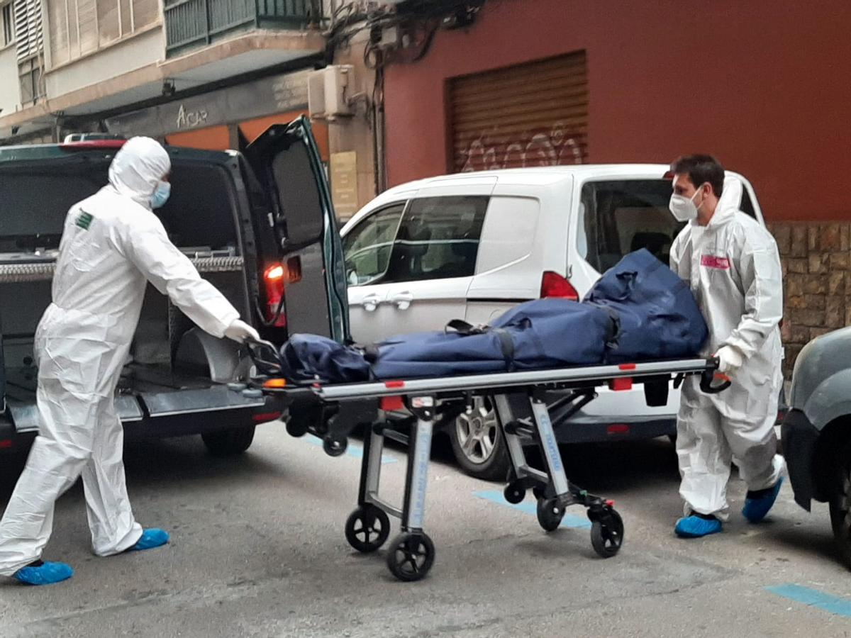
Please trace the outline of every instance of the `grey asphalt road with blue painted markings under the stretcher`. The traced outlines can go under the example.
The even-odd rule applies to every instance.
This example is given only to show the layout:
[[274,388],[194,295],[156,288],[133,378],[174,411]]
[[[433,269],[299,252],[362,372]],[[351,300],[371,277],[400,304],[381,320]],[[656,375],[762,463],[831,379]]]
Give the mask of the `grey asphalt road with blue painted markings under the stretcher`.
[[[723,534],[679,540],[668,441],[571,447],[564,459],[574,481],[617,502],[620,555],[597,558],[580,508],[542,532],[531,495],[525,507],[505,504],[500,485],[462,475],[443,447],[426,510],[437,560],[426,580],[403,584],[383,552],[346,544],[357,447],[331,459],[275,424],[239,459],[211,458],[194,438],[137,444],[126,453],[135,514],[173,542],[95,557],[77,485],[57,505],[45,555],[75,577],[48,588],[0,578],[0,636],[851,635],[851,578],[825,506],[807,514],[786,485],[762,525],[734,514]],[[392,499],[402,460],[386,453]],[[3,461],[0,506],[18,470]],[[734,481],[734,512],[743,493]]]

